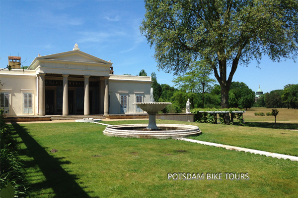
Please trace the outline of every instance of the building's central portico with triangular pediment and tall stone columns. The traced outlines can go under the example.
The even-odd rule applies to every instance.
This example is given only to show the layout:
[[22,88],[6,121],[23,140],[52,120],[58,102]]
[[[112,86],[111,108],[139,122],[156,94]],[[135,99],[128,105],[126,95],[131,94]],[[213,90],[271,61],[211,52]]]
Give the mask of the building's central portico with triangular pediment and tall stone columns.
[[112,64],[79,49],[36,57],[36,114],[108,114]]

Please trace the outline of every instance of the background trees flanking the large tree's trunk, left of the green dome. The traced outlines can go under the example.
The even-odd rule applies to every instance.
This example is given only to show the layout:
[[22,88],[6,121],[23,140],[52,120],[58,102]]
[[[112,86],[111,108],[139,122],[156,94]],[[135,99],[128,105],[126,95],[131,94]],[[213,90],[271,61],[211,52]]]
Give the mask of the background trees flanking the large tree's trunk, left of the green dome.
[[[202,68],[202,67],[201,67]],[[207,73],[207,75],[206,75]],[[142,70],[139,76],[145,75]],[[206,68],[190,71],[183,76],[173,79],[175,87],[167,84],[159,84],[156,74],[151,73],[153,81],[154,100],[156,102],[171,102],[172,105],[167,106],[163,113],[180,113],[186,107],[187,99],[191,101],[191,108],[221,108],[221,86],[215,84],[215,80],[209,76],[211,70]],[[146,74],[147,75],[147,74]],[[232,82],[229,91],[230,108],[251,108],[254,104],[255,92],[248,88],[243,82]]]

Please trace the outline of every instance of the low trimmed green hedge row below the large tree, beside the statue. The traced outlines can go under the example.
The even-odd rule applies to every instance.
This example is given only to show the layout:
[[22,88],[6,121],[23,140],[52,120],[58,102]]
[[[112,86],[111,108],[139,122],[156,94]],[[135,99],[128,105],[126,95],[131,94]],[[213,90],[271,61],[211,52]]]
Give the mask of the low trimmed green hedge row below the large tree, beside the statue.
[[[204,111],[204,112],[200,112]],[[229,111],[231,114],[231,118],[237,118],[240,126],[244,126],[243,113],[232,113],[232,111],[244,111],[239,108],[194,108],[191,110],[191,113],[194,113],[194,121],[195,122],[203,122],[203,123],[212,123],[217,124],[217,114],[219,114],[219,120],[221,124],[227,124],[225,122],[224,116],[225,113],[208,113],[208,111]],[[232,122],[230,124],[233,124]]]

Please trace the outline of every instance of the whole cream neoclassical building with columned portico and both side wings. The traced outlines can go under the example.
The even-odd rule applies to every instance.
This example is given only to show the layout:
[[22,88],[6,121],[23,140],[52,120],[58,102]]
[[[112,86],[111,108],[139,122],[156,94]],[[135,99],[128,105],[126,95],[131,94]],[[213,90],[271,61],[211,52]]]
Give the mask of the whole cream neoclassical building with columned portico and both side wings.
[[7,116],[146,113],[133,103],[149,102],[151,77],[114,75],[112,64],[77,45],[39,55],[26,70],[0,71],[0,108]]

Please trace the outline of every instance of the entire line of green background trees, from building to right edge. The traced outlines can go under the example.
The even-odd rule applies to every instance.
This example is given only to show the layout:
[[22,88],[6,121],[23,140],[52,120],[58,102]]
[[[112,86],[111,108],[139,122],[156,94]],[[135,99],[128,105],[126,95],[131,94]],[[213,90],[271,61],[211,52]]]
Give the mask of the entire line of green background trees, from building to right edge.
[[[221,108],[221,86],[211,79],[212,70],[198,63],[198,67],[173,79],[174,87],[157,82],[155,72],[151,73],[154,100],[171,102],[163,113],[180,113],[190,99],[191,108]],[[139,76],[147,76],[142,69]],[[177,87],[177,88],[175,88]],[[248,109],[251,107],[297,108],[298,85],[289,84],[284,90],[273,90],[261,95],[255,102],[255,92],[243,82],[231,82],[228,92],[230,108]]]

